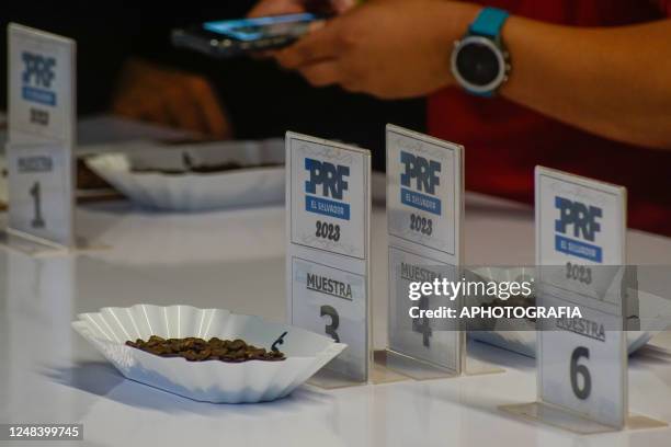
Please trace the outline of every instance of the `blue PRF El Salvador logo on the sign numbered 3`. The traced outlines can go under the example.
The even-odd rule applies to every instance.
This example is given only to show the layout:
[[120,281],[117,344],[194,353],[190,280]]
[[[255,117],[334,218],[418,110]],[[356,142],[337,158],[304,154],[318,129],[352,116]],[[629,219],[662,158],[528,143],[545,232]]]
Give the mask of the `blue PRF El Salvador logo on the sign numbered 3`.
[[350,167],[306,158],[305,169],[309,173],[305,182],[305,209],[350,220],[350,205],[342,202],[349,186],[345,179],[350,176]]

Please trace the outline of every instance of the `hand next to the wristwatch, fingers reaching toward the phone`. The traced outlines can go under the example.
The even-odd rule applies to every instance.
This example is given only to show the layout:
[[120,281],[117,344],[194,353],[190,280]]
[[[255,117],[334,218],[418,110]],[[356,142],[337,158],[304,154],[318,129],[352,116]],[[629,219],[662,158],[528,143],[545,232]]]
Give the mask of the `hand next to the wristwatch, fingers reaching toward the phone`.
[[384,99],[431,93],[452,81],[453,43],[480,7],[444,0],[369,0],[275,54],[312,85]]

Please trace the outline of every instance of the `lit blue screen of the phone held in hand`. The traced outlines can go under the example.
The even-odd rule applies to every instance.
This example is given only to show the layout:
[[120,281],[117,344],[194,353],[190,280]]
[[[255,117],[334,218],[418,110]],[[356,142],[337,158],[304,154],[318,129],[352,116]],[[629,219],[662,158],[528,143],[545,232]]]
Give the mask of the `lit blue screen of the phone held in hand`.
[[310,13],[274,15],[257,19],[206,22],[203,28],[238,41],[251,42],[266,37],[296,35],[307,31],[310,22],[322,18]]

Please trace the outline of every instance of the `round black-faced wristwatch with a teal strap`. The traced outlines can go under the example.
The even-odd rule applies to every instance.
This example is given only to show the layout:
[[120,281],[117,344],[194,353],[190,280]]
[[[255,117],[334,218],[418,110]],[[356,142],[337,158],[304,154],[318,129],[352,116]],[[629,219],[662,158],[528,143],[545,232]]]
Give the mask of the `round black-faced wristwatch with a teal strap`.
[[501,28],[510,14],[485,8],[452,50],[452,74],[467,92],[494,96],[508,80],[510,55],[501,39]]

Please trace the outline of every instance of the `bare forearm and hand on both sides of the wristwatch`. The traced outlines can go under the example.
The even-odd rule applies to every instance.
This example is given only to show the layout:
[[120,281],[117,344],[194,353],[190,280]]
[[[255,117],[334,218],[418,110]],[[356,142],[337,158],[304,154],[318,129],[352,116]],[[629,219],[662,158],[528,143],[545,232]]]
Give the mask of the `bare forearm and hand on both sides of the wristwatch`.
[[[371,0],[277,59],[315,85],[380,98],[424,95],[454,83],[452,44],[480,8]],[[580,28],[512,16],[503,42],[513,67],[501,89],[505,98],[603,137],[671,149],[671,20]]]

